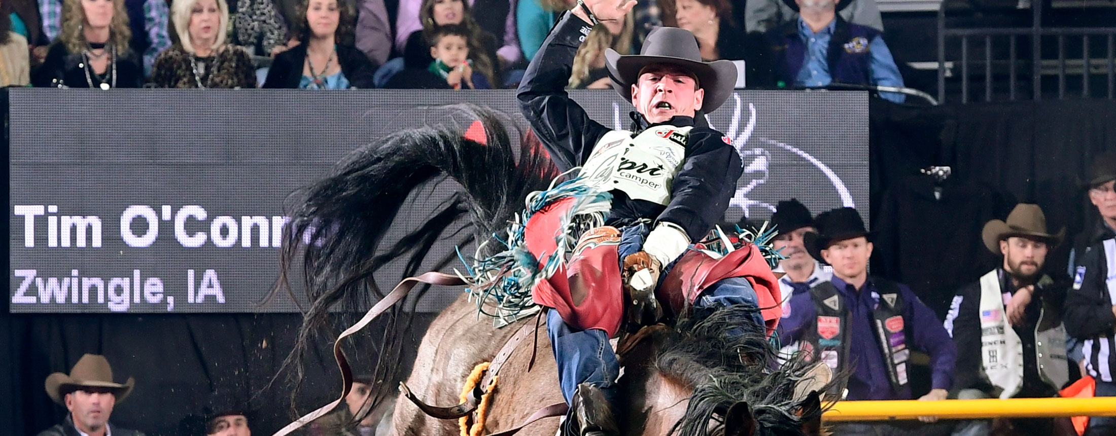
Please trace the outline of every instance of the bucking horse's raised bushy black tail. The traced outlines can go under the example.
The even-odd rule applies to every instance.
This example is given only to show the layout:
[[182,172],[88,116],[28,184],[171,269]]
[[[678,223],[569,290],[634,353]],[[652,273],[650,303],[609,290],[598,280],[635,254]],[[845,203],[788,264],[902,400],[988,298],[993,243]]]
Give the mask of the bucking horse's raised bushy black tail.
[[[290,221],[283,231],[281,272],[273,292],[292,292],[291,279],[299,275],[306,288],[309,306],[295,349],[283,364],[285,369],[294,369],[289,377],[296,384],[302,379],[301,362],[309,343],[327,321],[339,322],[384,297],[374,275],[387,262],[406,258],[403,277],[392,278],[397,280],[421,273],[423,265],[444,268],[454,260],[452,251],[434,253],[435,262],[426,261],[427,252],[461,215],[471,216],[465,226],[472,231],[464,238],[450,235],[459,238],[454,242],[484,242],[522,209],[529,192],[546,188],[557,175],[529,133],[507,127],[510,119],[471,105],[448,109],[451,118],[471,123],[468,133],[424,127],[388,135],[347,154],[328,176],[288,197]],[[382,246],[387,245],[385,236],[412,192],[441,176],[462,190],[431,211],[420,229],[406,229],[394,244]],[[393,308],[387,322],[395,324],[375,339],[387,343],[371,345],[379,349],[373,380],[385,381],[383,391],[373,396],[376,400],[386,396],[396,376],[394,355],[404,336],[400,329],[406,326],[400,322],[408,323],[411,312]]]

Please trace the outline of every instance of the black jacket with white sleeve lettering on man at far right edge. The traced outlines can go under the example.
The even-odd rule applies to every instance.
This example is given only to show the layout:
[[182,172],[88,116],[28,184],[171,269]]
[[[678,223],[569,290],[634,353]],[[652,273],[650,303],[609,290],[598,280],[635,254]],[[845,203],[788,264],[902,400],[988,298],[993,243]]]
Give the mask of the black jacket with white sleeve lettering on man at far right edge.
[[[1109,349],[1116,349],[1116,341],[1113,338],[1116,316],[1113,314],[1114,302],[1108,297],[1108,287],[1105,283],[1109,272],[1104,245],[1101,243],[1091,245],[1077,264],[1074,285],[1066,294],[1066,332],[1078,339],[1107,341]],[[1098,361],[1099,348],[1095,345],[1091,351],[1085,349],[1083,352],[1091,353],[1093,356],[1087,358],[1096,365],[1108,365],[1109,369],[1116,369],[1116,352],[1108,355],[1107,362]],[[1096,377],[1097,374],[1093,376]]]

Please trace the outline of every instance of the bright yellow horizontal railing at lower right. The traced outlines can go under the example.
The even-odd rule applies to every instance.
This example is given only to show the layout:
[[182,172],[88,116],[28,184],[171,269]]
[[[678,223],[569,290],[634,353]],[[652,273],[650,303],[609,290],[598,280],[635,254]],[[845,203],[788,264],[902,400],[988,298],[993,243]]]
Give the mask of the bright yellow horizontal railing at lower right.
[[889,420],[920,416],[941,419],[1116,416],[1116,397],[838,401],[822,419]]

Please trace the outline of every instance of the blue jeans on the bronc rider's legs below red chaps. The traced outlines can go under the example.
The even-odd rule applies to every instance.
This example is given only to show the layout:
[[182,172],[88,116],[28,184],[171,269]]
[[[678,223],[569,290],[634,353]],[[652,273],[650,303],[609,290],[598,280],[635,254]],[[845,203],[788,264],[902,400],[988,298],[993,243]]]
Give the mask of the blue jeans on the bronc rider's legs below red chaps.
[[[756,291],[748,279],[730,278],[706,288],[694,302],[694,309],[745,304],[756,309],[751,321],[763,326],[763,316],[760,314],[757,301]],[[608,343],[608,335],[599,329],[574,330],[562,321],[557,310],[547,312],[547,332],[558,361],[558,382],[566,403],[570,404],[577,385],[583,382],[602,388],[609,400],[613,400],[619,362]]]

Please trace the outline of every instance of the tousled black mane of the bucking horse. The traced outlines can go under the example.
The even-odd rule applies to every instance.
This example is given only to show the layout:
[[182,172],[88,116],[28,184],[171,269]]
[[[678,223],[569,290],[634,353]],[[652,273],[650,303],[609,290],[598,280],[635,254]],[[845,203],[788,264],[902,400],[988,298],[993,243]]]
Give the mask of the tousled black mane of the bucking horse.
[[[824,408],[796,401],[795,386],[811,366],[795,356],[776,364],[778,350],[757,326],[754,307],[698,310],[679,320],[658,346],[657,369],[694,388],[685,416],[673,432],[708,436],[711,419],[723,419],[738,401],[749,405],[760,435],[801,435]],[[723,432],[723,426],[716,433]]]

